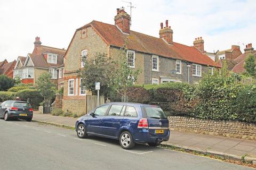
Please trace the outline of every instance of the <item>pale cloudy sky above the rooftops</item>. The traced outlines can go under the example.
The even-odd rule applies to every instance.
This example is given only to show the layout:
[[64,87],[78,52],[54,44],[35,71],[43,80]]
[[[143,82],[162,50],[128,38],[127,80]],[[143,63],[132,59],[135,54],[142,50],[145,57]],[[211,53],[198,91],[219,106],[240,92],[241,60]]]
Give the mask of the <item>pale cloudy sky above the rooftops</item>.
[[[169,20],[173,41],[188,46],[203,37],[207,52],[246,44],[256,48],[256,1],[254,0],[126,0],[131,1],[131,30],[159,37],[160,23]],[[119,0],[0,0],[0,61],[11,62],[42,45],[67,49],[77,28],[97,20],[114,24]]]

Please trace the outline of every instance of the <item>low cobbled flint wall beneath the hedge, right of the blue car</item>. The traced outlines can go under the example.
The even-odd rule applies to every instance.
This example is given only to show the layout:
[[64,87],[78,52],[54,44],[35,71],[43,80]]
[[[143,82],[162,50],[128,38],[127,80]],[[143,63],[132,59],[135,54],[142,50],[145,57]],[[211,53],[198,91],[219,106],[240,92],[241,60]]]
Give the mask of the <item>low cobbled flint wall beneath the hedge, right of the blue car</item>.
[[195,132],[225,137],[256,139],[256,124],[236,121],[200,120],[191,117],[170,116],[170,130]]

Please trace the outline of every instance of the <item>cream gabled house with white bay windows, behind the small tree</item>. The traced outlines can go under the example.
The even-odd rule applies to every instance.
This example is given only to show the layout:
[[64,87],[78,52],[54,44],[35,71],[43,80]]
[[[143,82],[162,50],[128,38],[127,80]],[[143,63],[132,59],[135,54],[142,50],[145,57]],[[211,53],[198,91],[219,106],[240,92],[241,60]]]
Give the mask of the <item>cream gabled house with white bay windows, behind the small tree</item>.
[[49,72],[52,81],[60,88],[63,86],[63,67],[60,66],[63,66],[63,56],[66,50],[43,46],[39,37],[36,37],[34,44],[33,53],[28,53],[27,57],[18,57],[13,78],[19,76],[22,83],[35,84],[42,73]]

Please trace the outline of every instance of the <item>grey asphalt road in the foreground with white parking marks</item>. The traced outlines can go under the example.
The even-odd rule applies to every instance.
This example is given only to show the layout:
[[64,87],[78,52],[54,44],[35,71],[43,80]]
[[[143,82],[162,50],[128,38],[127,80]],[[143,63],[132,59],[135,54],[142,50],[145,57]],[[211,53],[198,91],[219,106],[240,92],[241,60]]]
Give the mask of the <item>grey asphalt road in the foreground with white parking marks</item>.
[[169,149],[117,140],[78,139],[74,130],[0,119],[0,169],[252,169]]

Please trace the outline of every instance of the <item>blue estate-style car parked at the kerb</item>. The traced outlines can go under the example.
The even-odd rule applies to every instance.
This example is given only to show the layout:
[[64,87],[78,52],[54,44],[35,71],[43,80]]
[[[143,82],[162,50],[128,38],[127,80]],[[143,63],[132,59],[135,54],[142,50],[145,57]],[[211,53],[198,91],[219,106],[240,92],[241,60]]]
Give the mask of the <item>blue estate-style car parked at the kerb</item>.
[[88,135],[119,140],[124,149],[135,143],[158,146],[169,140],[169,120],[161,107],[135,103],[107,103],[78,118],[78,138]]

